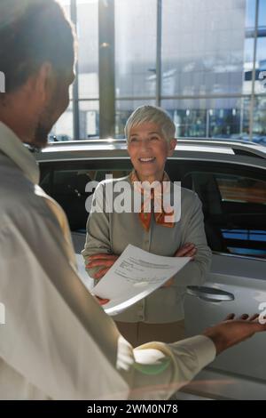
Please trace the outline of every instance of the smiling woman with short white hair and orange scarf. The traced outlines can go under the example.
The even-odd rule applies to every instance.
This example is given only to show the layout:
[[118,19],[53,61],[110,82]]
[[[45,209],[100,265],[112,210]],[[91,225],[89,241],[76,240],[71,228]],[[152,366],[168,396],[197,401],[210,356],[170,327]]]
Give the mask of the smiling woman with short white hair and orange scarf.
[[[132,191],[138,189],[141,193],[141,208],[138,213],[106,213],[102,207],[101,213],[90,213],[82,255],[88,274],[96,280],[106,274],[129,244],[158,255],[192,257],[192,261],[163,287],[114,317],[121,334],[133,346],[153,340],[176,342],[184,338],[185,286],[202,284],[211,261],[201,203],[192,190],[182,188],[181,218],[175,220],[174,216],[174,221],[168,221],[169,213],[165,212],[164,205],[158,210],[154,191],[150,195],[151,210],[146,210],[140,182],[152,184],[157,181],[160,195],[164,192],[164,182],[169,185],[170,194],[173,193],[173,183],[164,171],[167,158],[176,148],[175,125],[167,112],[153,106],[141,106],[129,117],[125,134],[134,169],[128,177],[113,180],[113,187],[119,181],[128,181]],[[100,189],[106,196],[106,181],[99,184],[94,201],[98,201]],[[180,208],[174,207],[173,215],[175,211]]]

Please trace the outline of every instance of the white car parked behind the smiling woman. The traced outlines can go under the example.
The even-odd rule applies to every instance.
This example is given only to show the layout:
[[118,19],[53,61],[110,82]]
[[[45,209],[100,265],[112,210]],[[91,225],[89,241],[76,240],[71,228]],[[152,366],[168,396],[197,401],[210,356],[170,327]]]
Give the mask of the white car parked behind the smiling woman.
[[[66,211],[75,251],[84,245],[88,181],[127,175],[125,141],[53,143],[37,154],[41,186]],[[230,312],[266,314],[266,149],[239,141],[180,140],[166,170],[194,189],[203,204],[211,272],[185,296],[188,335],[200,334]],[[78,255],[77,255],[78,256]],[[82,259],[79,258],[82,269]],[[83,271],[84,280],[90,280]],[[89,284],[90,285],[90,284]],[[266,335],[227,350],[184,388],[215,399],[266,399]],[[197,397],[196,397],[197,398]]]

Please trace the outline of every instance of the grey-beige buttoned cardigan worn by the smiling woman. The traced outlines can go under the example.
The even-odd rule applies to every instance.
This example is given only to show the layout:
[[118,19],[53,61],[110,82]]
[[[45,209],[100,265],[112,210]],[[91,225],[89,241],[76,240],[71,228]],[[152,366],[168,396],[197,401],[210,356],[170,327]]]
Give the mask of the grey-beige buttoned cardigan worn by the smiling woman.
[[[108,213],[106,185],[112,186],[129,177],[101,181],[93,196],[94,209],[87,222],[87,237],[82,251],[85,263],[90,255],[97,253],[121,254],[127,245],[136,245],[145,251],[158,255],[173,256],[176,250],[187,242],[196,245],[198,252],[194,261],[176,274],[174,285],[161,287],[142,301],[113,317],[123,322],[171,323],[184,318],[184,293],[186,285],[201,285],[207,276],[211,263],[211,251],[207,246],[204,231],[201,202],[196,193],[181,189],[181,218],[174,228],[157,224],[152,216],[151,226],[145,231],[138,219],[138,213]],[[130,184],[130,183],[129,183]],[[133,186],[130,184],[131,189]],[[115,192],[113,197],[115,197]],[[104,197],[104,201],[100,197]],[[104,205],[104,206],[103,206]],[[94,277],[99,268],[87,269]]]

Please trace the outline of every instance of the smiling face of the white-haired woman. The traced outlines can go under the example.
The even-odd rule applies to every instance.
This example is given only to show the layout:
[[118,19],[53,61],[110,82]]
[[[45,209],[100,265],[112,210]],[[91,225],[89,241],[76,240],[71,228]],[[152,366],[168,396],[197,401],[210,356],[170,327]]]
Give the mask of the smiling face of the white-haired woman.
[[133,127],[128,152],[140,181],[161,181],[167,157],[173,155],[176,139],[166,141],[160,126],[153,122]]

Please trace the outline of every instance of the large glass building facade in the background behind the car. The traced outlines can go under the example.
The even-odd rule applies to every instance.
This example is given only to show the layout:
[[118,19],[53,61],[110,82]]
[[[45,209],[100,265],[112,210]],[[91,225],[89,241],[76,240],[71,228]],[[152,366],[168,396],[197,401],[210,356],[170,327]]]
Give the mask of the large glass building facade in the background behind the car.
[[[79,40],[77,81],[51,132],[61,141],[98,138],[99,50],[113,44],[108,66],[115,118],[123,137],[141,104],[167,109],[178,137],[233,138],[266,144],[266,2],[264,0],[60,0]],[[100,24],[110,9],[114,39]],[[113,18],[114,16],[114,18]],[[99,38],[105,42],[99,44]],[[105,37],[106,36],[106,37]],[[99,76],[101,75],[101,76]],[[114,129],[113,129],[114,125]],[[105,126],[106,127],[106,126]]]

